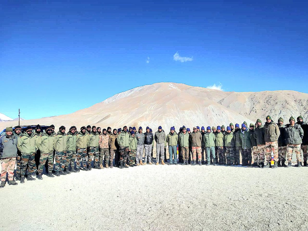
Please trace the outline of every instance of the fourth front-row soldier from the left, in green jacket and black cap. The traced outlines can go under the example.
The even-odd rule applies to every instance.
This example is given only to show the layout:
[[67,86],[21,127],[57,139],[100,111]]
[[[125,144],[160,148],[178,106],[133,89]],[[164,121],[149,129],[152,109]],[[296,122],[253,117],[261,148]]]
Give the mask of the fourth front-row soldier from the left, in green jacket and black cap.
[[67,136],[65,133],[65,127],[61,126],[59,128],[59,132],[57,132],[55,136],[55,175],[66,175],[64,172],[65,164],[66,164],[66,150],[67,150]]

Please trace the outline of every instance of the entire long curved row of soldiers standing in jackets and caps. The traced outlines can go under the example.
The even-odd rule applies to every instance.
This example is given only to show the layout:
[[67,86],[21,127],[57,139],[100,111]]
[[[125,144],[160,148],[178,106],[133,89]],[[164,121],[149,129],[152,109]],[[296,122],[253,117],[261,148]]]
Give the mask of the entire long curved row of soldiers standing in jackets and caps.
[[[139,166],[152,164],[154,140],[156,142],[156,164],[165,164],[166,146],[168,145],[169,163],[177,164],[177,158],[184,165],[239,165],[240,154],[242,156],[242,166],[252,166],[260,168],[276,168],[279,166],[290,167],[292,153],[295,152],[297,158],[296,167],[301,167],[301,149],[304,156],[304,166],[307,166],[307,137],[304,130],[307,124],[303,122],[302,116],[297,118],[297,123],[293,117],[290,124],[283,124],[283,119],[279,118],[278,124],[267,116],[264,126],[261,120],[256,124],[243,122],[241,128],[239,124],[232,123],[225,129],[225,126],[217,128],[194,127],[193,132],[185,126],[180,128],[179,133],[174,127],[166,135],[161,126],[157,132],[152,133],[152,129],[146,128],[143,133],[141,127],[138,132],[135,127],[126,126],[122,129],[111,128],[107,130],[88,125],[81,127],[77,132],[72,126],[66,133],[66,128],[61,126],[55,133],[55,126],[51,125],[41,132],[41,127],[37,125],[35,131],[31,127],[21,133],[21,127],[6,128],[6,135],[0,138],[1,152],[1,186],[4,187],[6,174],[8,174],[9,184],[17,184],[14,181],[14,167],[17,159],[15,180],[24,183],[27,173],[27,180],[43,179],[42,173],[46,168],[47,176],[52,174],[55,168],[55,175],[66,175],[71,172],[79,172],[79,169],[91,170],[91,162],[94,160],[94,168],[113,168],[113,159],[120,168],[129,166]],[[304,136],[305,135],[305,136]],[[35,163],[34,157],[39,152],[39,163]],[[144,160],[143,162],[143,152]],[[271,164],[272,153],[274,165]],[[253,158],[252,158],[253,154]],[[178,155],[178,156],[177,156]],[[264,164],[266,156],[267,164]],[[286,165],[286,158],[288,164]],[[54,166],[55,160],[55,166]],[[75,166],[76,161],[76,166]],[[253,164],[252,164],[253,162]],[[46,166],[45,166],[46,165]],[[76,169],[75,169],[76,168]]]

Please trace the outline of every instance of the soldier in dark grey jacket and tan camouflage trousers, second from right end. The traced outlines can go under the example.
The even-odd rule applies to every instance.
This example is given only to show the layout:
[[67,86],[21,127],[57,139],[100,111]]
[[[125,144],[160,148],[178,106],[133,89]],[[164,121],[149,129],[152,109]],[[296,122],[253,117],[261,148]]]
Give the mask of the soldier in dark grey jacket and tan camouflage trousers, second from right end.
[[295,124],[293,116],[289,119],[290,124],[286,125],[286,143],[287,143],[287,154],[288,154],[288,165],[291,167],[293,151],[296,155],[297,164],[294,167],[302,167],[302,156],[301,156],[301,144],[302,138],[304,137],[304,131],[300,124]]

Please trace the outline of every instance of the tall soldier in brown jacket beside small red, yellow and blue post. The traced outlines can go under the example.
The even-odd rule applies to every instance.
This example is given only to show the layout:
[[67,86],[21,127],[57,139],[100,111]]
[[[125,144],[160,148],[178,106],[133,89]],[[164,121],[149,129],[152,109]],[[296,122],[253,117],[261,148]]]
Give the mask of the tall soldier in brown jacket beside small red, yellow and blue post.
[[[272,121],[272,118],[268,115],[266,116],[266,122],[264,125],[264,140],[266,147],[266,160],[267,164],[264,168],[277,168],[278,163],[278,137],[280,136],[279,127]],[[274,166],[271,166],[272,155],[274,154]]]

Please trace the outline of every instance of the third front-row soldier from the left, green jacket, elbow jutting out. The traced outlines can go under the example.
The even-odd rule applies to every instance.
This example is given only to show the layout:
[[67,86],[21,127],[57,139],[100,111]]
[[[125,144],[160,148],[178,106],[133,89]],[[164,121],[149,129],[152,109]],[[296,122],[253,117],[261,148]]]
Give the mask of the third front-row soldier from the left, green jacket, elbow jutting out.
[[[44,165],[48,162],[48,177],[55,177],[52,175],[54,168],[54,148],[55,148],[55,135],[52,135],[52,128],[47,127],[45,133],[39,136],[36,141],[36,146],[41,151],[38,168],[38,179],[42,180],[42,172]],[[47,170],[47,169],[46,169]]]

